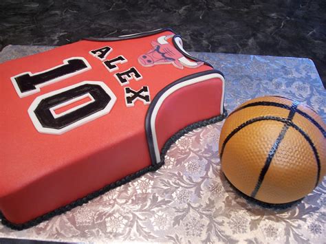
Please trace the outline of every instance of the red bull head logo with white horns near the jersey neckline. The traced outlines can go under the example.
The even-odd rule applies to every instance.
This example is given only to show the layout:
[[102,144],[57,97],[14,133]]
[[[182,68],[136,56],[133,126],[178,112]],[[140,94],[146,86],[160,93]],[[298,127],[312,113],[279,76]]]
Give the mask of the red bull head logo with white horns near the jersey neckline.
[[144,67],[173,64],[178,69],[183,69],[184,67],[197,68],[204,64],[203,62],[194,62],[193,60],[186,58],[167,41],[171,37],[173,37],[173,35],[160,36],[157,38],[157,41],[152,41],[151,45],[153,48],[146,54],[140,55],[138,57],[138,62]]

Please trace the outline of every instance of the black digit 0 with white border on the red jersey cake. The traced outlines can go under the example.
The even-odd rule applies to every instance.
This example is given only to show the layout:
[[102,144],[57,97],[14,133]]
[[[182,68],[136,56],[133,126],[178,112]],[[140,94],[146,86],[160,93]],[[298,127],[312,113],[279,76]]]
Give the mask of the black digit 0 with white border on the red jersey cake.
[[[80,85],[85,85],[85,84],[100,85],[100,87],[102,87],[102,89],[104,89],[107,92],[107,94],[110,96],[111,100],[109,101],[109,103],[107,104],[105,109],[102,109],[101,111],[98,111],[96,113],[93,113],[93,114],[87,116],[86,118],[83,118],[83,119],[78,120],[78,121],[76,121],[76,122],[74,122],[72,124],[69,124],[68,126],[65,126],[62,129],[52,129],[52,128],[43,127],[42,124],[39,122],[38,118],[36,117],[35,113],[34,113],[36,107],[39,105],[41,100],[43,100],[45,98],[49,98],[50,96],[54,96],[54,95],[56,95],[58,93],[61,93],[63,91],[68,91],[69,89],[79,87]],[[109,89],[109,87],[107,87],[107,85],[105,85],[104,82],[102,82],[102,81],[83,81],[83,82],[79,82],[77,84],[74,84],[72,86],[65,87],[63,89],[58,89],[56,91],[46,93],[46,94],[44,94],[42,96],[38,96],[37,98],[35,98],[35,100],[30,105],[30,108],[28,109],[28,114],[30,115],[30,118],[32,119],[32,122],[33,122],[36,130],[39,131],[40,133],[61,135],[61,134],[65,133],[65,132],[67,132],[67,131],[70,131],[70,130],[78,127],[78,126],[81,126],[82,124],[86,124],[87,122],[90,122],[91,120],[96,120],[97,118],[100,118],[103,115],[106,115],[107,113],[109,113],[111,111],[113,105],[116,103],[116,100],[117,100],[116,95],[114,95],[114,93],[111,91],[111,89]]]

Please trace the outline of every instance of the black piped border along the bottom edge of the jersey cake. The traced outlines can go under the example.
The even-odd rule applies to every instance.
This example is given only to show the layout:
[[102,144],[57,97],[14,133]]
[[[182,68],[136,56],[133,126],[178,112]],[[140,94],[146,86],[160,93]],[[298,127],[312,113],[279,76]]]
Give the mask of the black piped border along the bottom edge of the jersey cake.
[[226,111],[224,111],[223,115],[218,115],[216,117],[210,118],[208,120],[202,120],[199,122],[195,122],[193,124],[190,124],[186,127],[184,127],[184,129],[178,131],[177,133],[175,133],[172,137],[169,138],[169,140],[166,141],[166,143],[164,144],[162,151],[161,151],[161,162],[148,166],[146,168],[143,168],[142,170],[139,170],[136,173],[133,173],[131,175],[127,175],[127,177],[124,177],[123,179],[120,179],[118,181],[115,181],[111,184],[108,184],[107,186],[101,188],[100,190],[97,190],[95,192],[90,193],[89,195],[82,197],[80,199],[77,199],[75,201],[72,201],[72,203],[67,204],[66,206],[63,206],[61,208],[57,208],[56,210],[52,210],[51,212],[47,212],[47,214],[43,214],[40,217],[36,217],[36,219],[32,219],[30,221],[27,221],[25,223],[12,223],[10,221],[8,221],[8,219],[6,219],[6,217],[4,217],[4,215],[2,214],[2,212],[0,211],[0,219],[1,219],[1,223],[3,225],[6,225],[9,228],[12,228],[13,230],[24,230],[27,228],[31,228],[34,225],[38,225],[39,223],[46,221],[48,219],[51,219],[52,217],[59,215],[59,214],[63,214],[64,212],[67,212],[69,210],[72,210],[72,208],[75,208],[76,206],[82,206],[84,203],[87,203],[88,201],[90,201],[91,199],[94,199],[96,197],[99,197],[100,195],[103,195],[105,192],[108,192],[109,190],[116,188],[118,186],[122,186],[124,184],[127,184],[129,181],[132,181],[133,179],[136,179],[142,175],[144,175],[145,173],[151,172],[151,171],[155,171],[157,169],[159,169],[163,164],[164,164],[164,157],[167,153],[167,151],[169,151],[169,148],[171,147],[171,145],[173,143],[175,143],[180,137],[182,137],[182,135],[193,131],[194,129],[198,129],[200,127],[206,126],[208,124],[213,124],[216,122],[219,122],[221,120],[224,120],[224,118],[226,118]]

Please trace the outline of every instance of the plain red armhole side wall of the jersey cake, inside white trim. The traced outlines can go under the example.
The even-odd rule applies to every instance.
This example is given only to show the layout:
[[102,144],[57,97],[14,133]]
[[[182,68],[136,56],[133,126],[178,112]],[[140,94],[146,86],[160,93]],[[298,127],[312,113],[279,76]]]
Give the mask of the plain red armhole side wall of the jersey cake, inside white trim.
[[221,115],[222,91],[222,81],[214,78],[171,93],[156,116],[155,128],[160,151],[173,134],[188,124]]

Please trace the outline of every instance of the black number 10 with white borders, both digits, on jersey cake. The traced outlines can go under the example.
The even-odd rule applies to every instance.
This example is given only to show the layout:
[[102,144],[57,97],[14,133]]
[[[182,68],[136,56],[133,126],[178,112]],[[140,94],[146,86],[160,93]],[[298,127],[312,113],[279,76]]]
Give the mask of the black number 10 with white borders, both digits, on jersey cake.
[[[76,76],[91,69],[85,58],[74,57],[63,60],[63,65],[36,74],[25,72],[11,78],[20,98],[41,91],[41,87]],[[74,102],[87,98],[78,106],[63,113],[56,109],[74,105]],[[101,81],[83,81],[38,96],[30,105],[28,113],[37,131],[60,135],[91,120],[109,113],[116,102],[111,89]]]

